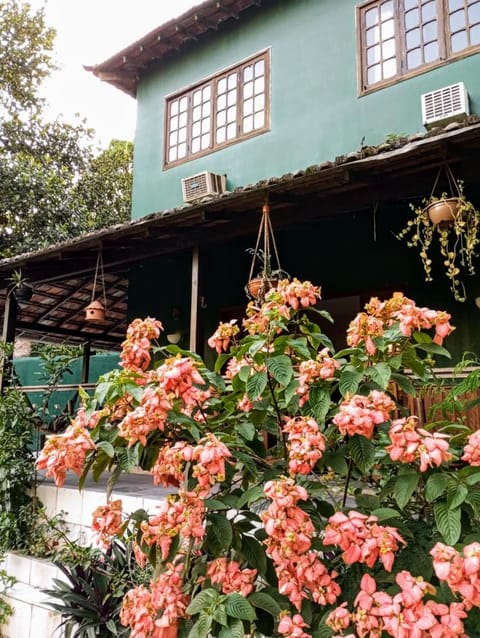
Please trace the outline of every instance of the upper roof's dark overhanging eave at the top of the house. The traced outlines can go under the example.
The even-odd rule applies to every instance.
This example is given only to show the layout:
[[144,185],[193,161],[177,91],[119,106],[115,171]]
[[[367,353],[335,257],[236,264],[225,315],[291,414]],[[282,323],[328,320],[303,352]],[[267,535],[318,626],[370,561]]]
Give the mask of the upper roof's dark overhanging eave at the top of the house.
[[135,97],[141,72],[210,30],[218,30],[229,20],[259,6],[262,0],[207,0],[178,18],[162,24],[105,62],[85,66],[101,80]]

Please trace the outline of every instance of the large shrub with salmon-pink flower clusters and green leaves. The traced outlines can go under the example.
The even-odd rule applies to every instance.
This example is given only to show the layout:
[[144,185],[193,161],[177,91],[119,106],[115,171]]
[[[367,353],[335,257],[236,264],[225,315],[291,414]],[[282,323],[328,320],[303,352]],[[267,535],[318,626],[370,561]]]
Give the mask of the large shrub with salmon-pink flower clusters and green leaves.
[[[450,317],[374,298],[335,353],[319,298],[280,282],[243,336],[212,335],[213,371],[136,319],[122,369],[41,453],[59,485],[112,472],[99,543],[154,567],[123,602],[132,638],[480,635],[480,437],[398,400],[432,382]],[[150,514],[110,500],[136,466],[169,491]]]

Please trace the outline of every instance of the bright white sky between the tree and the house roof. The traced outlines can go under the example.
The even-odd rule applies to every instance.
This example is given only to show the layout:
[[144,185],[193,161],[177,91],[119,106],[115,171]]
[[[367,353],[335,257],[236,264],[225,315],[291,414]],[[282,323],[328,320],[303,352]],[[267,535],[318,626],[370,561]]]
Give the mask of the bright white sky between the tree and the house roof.
[[43,90],[53,119],[71,122],[76,113],[87,119],[105,148],[112,139],[132,140],[135,100],[83,68],[103,62],[200,0],[29,0],[45,7],[46,22],[57,37],[54,59],[60,70]]

